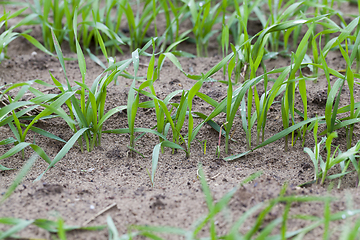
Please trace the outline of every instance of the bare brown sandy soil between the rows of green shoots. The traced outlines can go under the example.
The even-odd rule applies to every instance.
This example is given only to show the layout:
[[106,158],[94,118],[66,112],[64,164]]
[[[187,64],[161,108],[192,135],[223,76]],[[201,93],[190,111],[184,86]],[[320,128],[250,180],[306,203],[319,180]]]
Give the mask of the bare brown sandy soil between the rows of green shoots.
[[[39,32],[35,29],[34,32]],[[214,42],[216,45],[216,42]],[[194,52],[193,45],[189,52]],[[186,49],[185,49],[186,50]],[[37,52],[32,55],[32,52]],[[180,58],[183,69],[191,74],[200,74],[208,71],[212,66],[221,60],[217,49],[210,52],[209,58]],[[49,71],[62,83],[65,83],[63,72],[56,58],[39,52],[25,40],[16,40],[9,48],[10,60],[3,61],[0,65],[0,85],[7,83],[24,82],[33,79],[41,79],[51,83]],[[75,54],[65,52],[67,57],[76,57]],[[117,56],[118,60],[129,58],[129,52],[123,56]],[[101,57],[100,57],[101,58]],[[101,58],[104,60],[103,58]],[[147,64],[149,58],[141,57],[140,62]],[[91,85],[102,69],[86,58],[87,78],[86,83]],[[286,66],[289,59],[279,57],[276,60],[267,62],[267,69]],[[329,67],[343,69],[345,62],[340,52],[330,52],[328,55]],[[77,62],[66,62],[69,80],[79,81],[81,75]],[[146,76],[147,68],[141,66],[139,76]],[[131,69],[129,69],[131,71]],[[220,73],[214,76],[221,80]],[[334,82],[334,81],[333,81]],[[131,80],[119,78],[118,85],[111,85],[108,89],[106,108],[126,105],[127,92]],[[161,77],[156,82],[158,97],[164,98],[177,89],[189,89],[194,81],[187,79],[170,61],[166,61]],[[324,97],[322,91],[326,89],[326,80],[323,77],[317,83],[308,82],[308,104],[309,116],[324,114]],[[40,90],[45,87],[36,85]],[[200,90],[210,97],[220,101],[226,95],[226,86],[219,83],[205,83]],[[356,88],[358,95],[359,88]],[[145,98],[142,99],[146,100]],[[359,101],[357,96],[356,101]],[[301,107],[301,99],[297,95],[298,107]],[[348,90],[344,90],[341,105],[349,103]],[[211,112],[211,107],[195,98],[194,107],[197,111],[205,114]],[[224,115],[217,117],[216,122],[225,122]],[[140,110],[137,115],[136,126],[151,127],[156,124],[155,113],[152,110]],[[246,150],[245,133],[242,131],[240,121],[237,119],[235,125],[237,131],[231,142],[230,153],[237,154]],[[69,127],[61,120],[47,120],[45,123],[38,123],[41,127],[57,136],[67,140],[72,136]],[[105,123],[105,129],[116,129],[127,127],[125,113],[119,113],[111,117]],[[269,138],[282,130],[280,104],[274,104],[268,116],[265,138]],[[359,134],[356,127],[355,134]],[[0,128],[0,139],[11,137],[11,130],[7,127]],[[253,134],[253,139],[255,133]],[[45,152],[54,157],[62,148],[63,144],[55,140],[44,138],[41,135],[29,133],[27,141],[35,142]],[[207,213],[204,194],[197,178],[198,164],[202,163],[206,176],[209,178],[212,195],[219,200],[228,191],[239,184],[250,174],[262,171],[263,175],[251,183],[240,188],[228,206],[229,218],[219,217],[217,227],[220,233],[225,233],[244,211],[257,203],[264,202],[278,196],[283,184],[288,183],[288,194],[299,195],[327,195],[327,187],[311,185],[307,188],[298,188],[297,185],[311,181],[314,169],[308,155],[304,153],[303,147],[298,141],[295,146],[284,152],[284,140],[277,141],[264,148],[256,150],[247,156],[233,162],[225,162],[216,157],[216,146],[218,133],[205,125],[197,135],[199,141],[207,140],[207,151],[204,154],[201,144],[194,141],[191,149],[191,158],[186,159],[183,152],[171,154],[166,149],[159,159],[156,171],[155,186],[151,181],[147,170],[151,169],[151,155],[153,147],[158,143],[157,137],[145,135],[137,142],[136,149],[145,158],[139,155],[129,156],[126,145],[129,143],[128,135],[104,134],[101,147],[95,148],[92,152],[81,153],[79,147],[72,148],[65,157],[48,171],[39,182],[33,182],[47,167],[43,160],[38,160],[31,172],[22,181],[14,194],[0,206],[1,217],[16,217],[22,219],[45,218],[56,220],[62,217],[68,225],[81,225],[96,215],[97,212],[111,204],[113,208],[96,217],[89,225],[106,225],[106,216],[110,215],[117,229],[121,234],[127,233],[130,225],[155,225],[155,226],[176,226],[185,229],[191,228],[195,221]],[[359,140],[354,138],[354,141]],[[334,144],[345,141],[345,133],[340,132],[339,138]],[[222,142],[223,144],[223,142]],[[255,142],[252,142],[255,146]],[[313,148],[314,141],[312,134],[308,134],[305,146]],[[0,155],[8,151],[10,146],[1,146]],[[31,155],[30,150],[25,151],[25,156]],[[222,157],[225,156],[222,146]],[[20,154],[1,160],[0,164],[20,169],[26,160],[22,160]],[[340,172],[336,167],[331,173]],[[17,170],[0,172],[0,193],[4,193],[15,178]],[[214,177],[215,176],[215,177]],[[212,178],[214,177],[214,178]],[[338,180],[333,181],[335,186]],[[346,195],[353,201],[353,208],[360,208],[360,192],[356,188],[356,174],[348,174],[342,180],[341,187],[331,191],[336,198],[331,205],[332,212],[347,209]],[[267,217],[267,222],[280,217],[283,206],[274,208]],[[291,214],[312,214],[322,216],[322,203],[299,203],[291,208]],[[246,230],[254,223],[256,215],[252,216],[245,224]],[[229,223],[230,222],[230,223]],[[288,229],[304,227],[309,222],[289,221]],[[3,229],[3,227],[2,227]],[[322,228],[311,231],[306,239],[321,238]],[[28,227],[22,231],[21,236],[27,238],[50,239],[49,233],[39,230],[36,227]],[[336,234],[334,236],[337,236]],[[68,233],[68,239],[107,239],[106,230],[98,232],[73,231]],[[172,238],[171,238],[172,239]]]

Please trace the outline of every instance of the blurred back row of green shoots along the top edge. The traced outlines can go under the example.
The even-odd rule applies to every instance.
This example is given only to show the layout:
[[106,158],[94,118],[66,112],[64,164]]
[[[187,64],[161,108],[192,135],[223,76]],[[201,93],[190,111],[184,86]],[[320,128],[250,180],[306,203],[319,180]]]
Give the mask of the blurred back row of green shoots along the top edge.
[[[338,1],[339,2],[339,1]],[[16,4],[29,8],[26,15],[26,25],[40,25],[42,40],[45,48],[50,52],[55,50],[54,32],[59,43],[68,42],[73,52],[76,50],[76,40],[81,40],[82,47],[90,53],[91,46],[95,43],[95,51],[101,48],[97,35],[101,35],[109,52],[114,55],[122,53],[120,46],[127,45],[131,51],[142,47],[151,37],[157,37],[157,48],[166,49],[167,44],[187,40],[196,43],[197,56],[208,56],[208,45],[211,39],[216,39],[222,46],[223,54],[228,53],[229,45],[226,44],[230,37],[235,45],[241,45],[249,38],[247,25],[253,20],[255,14],[263,28],[285,22],[289,19],[306,17],[304,13],[313,7],[314,16],[338,16],[346,24],[343,15],[334,11],[334,1],[319,4],[318,1],[264,1],[264,0],[226,0],[226,1],[195,1],[195,0],[34,0],[34,2],[2,2],[2,5]],[[269,13],[263,6],[270,7]],[[165,28],[158,27],[159,15],[165,18]],[[73,19],[79,18],[77,26]],[[186,21],[191,21],[191,29],[182,31]],[[332,23],[325,23],[324,30],[329,30]],[[187,25],[186,25],[187,26]],[[223,26],[219,30],[219,26]],[[74,28],[76,27],[76,28]],[[149,30],[152,31],[151,37]],[[75,37],[75,32],[78,36]],[[289,47],[289,37],[293,33],[296,40],[301,33],[301,27],[288,28],[287,31],[278,29],[267,36],[269,49],[273,54],[281,54],[279,46]],[[329,32],[326,34],[329,39]],[[281,37],[283,36],[283,42]],[[248,45],[250,47],[250,45]],[[183,55],[179,51],[174,51]],[[286,52],[286,51],[285,51]],[[282,52],[283,54],[286,54]],[[246,51],[245,62],[249,63]],[[240,64],[240,65],[241,65]]]

